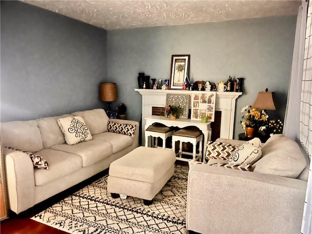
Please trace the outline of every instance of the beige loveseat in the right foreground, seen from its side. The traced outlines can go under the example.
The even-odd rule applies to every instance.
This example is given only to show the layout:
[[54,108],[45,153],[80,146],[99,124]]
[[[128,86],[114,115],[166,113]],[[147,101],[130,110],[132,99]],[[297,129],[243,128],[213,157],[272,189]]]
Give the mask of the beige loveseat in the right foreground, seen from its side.
[[187,229],[201,234],[300,233],[310,164],[303,153],[288,137],[274,135],[262,145],[252,171],[194,164],[188,177]]

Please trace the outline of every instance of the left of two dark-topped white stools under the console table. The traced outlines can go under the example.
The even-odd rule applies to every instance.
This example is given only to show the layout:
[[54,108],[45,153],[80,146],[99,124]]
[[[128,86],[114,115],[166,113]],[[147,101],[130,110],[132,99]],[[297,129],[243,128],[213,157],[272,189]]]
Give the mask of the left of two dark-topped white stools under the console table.
[[[147,129],[145,129],[145,147],[148,147],[148,137],[156,137],[155,145],[157,148],[158,137],[162,139],[162,148],[166,148],[166,139],[174,134],[174,129],[167,127],[162,123],[153,123]],[[151,142],[151,147],[153,147],[153,138]]]

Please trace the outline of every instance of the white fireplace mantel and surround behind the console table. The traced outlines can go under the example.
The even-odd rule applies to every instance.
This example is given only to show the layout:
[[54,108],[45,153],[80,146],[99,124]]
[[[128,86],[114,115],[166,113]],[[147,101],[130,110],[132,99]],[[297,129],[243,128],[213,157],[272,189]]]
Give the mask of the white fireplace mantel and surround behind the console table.
[[[159,90],[159,89],[135,89],[142,95],[142,126],[145,126],[145,117],[152,115],[152,107],[165,107],[167,94],[192,94],[200,91],[187,90]],[[234,116],[236,98],[241,92],[216,92],[215,110],[221,111],[220,137],[233,139]],[[144,139],[144,127],[142,127],[142,139]]]

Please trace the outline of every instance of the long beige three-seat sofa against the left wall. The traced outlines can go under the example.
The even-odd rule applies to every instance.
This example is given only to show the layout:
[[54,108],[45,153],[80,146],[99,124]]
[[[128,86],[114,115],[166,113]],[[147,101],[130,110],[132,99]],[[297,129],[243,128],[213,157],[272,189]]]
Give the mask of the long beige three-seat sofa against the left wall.
[[[84,119],[92,140],[66,144],[57,119],[71,116]],[[109,121],[135,125],[134,136],[108,132]],[[111,162],[137,148],[138,127],[136,121],[109,119],[102,109],[1,123],[9,209],[19,214],[107,169]],[[34,168],[29,155],[5,147],[42,156],[49,169]]]

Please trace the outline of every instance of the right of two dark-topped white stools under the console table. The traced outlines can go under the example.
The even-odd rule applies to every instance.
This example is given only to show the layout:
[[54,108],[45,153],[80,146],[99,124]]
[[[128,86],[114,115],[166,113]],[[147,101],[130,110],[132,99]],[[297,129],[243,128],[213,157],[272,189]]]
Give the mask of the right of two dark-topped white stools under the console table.
[[[173,145],[172,150],[173,151],[175,151],[176,141],[180,141],[179,152],[176,154],[176,159],[181,160],[181,161],[190,161],[190,160],[196,161],[197,159],[199,159],[200,161],[202,158],[202,139],[203,139],[203,134],[198,128],[194,126],[185,127],[176,131],[172,135],[172,145]],[[198,141],[199,141],[199,154],[196,154],[196,145]],[[182,142],[192,143],[193,153],[182,152]],[[192,159],[183,158],[182,154],[192,155],[193,158]]]

